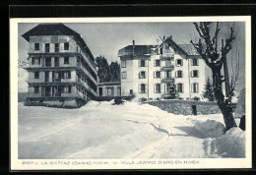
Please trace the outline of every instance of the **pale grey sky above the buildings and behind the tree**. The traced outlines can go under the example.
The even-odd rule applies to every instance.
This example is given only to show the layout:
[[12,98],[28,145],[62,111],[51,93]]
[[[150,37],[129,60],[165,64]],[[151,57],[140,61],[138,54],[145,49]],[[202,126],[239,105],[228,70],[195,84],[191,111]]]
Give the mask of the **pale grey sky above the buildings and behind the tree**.
[[[19,59],[26,61],[28,58],[29,43],[21,36],[38,24],[19,24]],[[82,34],[84,40],[91,49],[94,57],[104,55],[108,60],[118,61],[118,50],[126,45],[135,44],[158,44],[160,36],[172,35],[178,44],[189,43],[198,38],[197,31],[192,23],[64,23],[70,29]],[[232,24],[229,24],[232,25]],[[222,26],[221,35],[227,33],[226,26]],[[233,51],[239,50],[240,55],[240,80],[244,82],[245,74],[245,24],[235,23],[236,39],[233,43]],[[229,71],[230,56],[227,57]],[[233,53],[233,55],[235,55]],[[238,82],[242,84],[242,81]]]

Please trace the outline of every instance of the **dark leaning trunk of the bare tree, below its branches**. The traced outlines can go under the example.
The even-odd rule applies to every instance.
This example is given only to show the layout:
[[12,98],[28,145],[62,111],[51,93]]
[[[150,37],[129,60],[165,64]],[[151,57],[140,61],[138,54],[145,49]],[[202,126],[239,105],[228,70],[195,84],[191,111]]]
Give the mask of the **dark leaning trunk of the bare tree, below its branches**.
[[222,76],[221,76],[222,66],[212,68],[213,71],[213,86],[215,91],[215,97],[217,103],[224,115],[224,124],[226,131],[230,128],[237,127],[233,118],[231,103],[224,101],[224,93],[222,87]]

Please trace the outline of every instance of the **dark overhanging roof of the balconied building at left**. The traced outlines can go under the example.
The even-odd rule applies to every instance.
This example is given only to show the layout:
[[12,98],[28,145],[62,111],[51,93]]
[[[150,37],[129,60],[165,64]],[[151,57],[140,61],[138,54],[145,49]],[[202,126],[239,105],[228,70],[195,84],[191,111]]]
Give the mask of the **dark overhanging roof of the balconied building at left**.
[[75,30],[70,29],[61,23],[39,24],[33,29],[24,33],[22,36],[29,42],[30,36],[32,35],[74,35],[75,39],[79,41],[78,44],[80,44],[81,47],[84,48],[90,57],[95,61],[91,50],[81,35]]

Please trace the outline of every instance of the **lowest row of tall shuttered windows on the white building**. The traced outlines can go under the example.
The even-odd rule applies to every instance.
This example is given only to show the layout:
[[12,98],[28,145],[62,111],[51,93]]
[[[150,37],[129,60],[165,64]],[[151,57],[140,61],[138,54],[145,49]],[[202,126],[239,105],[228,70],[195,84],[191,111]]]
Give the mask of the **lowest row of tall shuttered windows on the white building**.
[[[167,84],[167,91],[170,88],[170,84]],[[184,92],[184,85],[183,84],[176,84],[175,88],[177,92],[183,93]],[[193,83],[191,84],[191,92],[197,93],[199,92],[199,84],[198,83]],[[160,84],[155,84],[154,85],[154,92],[155,93],[160,93],[161,92],[161,86]],[[140,84],[139,85],[139,93],[147,93],[147,85],[146,84]]]

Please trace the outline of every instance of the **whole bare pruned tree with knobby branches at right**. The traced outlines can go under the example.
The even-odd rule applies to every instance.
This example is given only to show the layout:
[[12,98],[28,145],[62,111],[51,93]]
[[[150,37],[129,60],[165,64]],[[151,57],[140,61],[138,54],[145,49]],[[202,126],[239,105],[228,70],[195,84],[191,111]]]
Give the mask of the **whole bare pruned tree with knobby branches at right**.
[[[190,42],[202,56],[202,59],[207,66],[212,70],[215,97],[224,115],[224,124],[227,131],[232,127],[237,127],[232,114],[231,98],[238,77],[239,66],[236,66],[235,74],[231,76],[230,82],[228,80],[229,77],[226,66],[226,55],[232,49],[232,42],[235,38],[234,29],[229,27],[228,35],[220,40],[221,28],[219,22],[216,23],[216,29],[213,29],[213,26],[210,27],[210,25],[212,25],[211,22],[193,24],[199,33],[200,39],[198,43],[195,43],[192,40]],[[221,46],[219,46],[220,43],[222,43]],[[223,66],[224,76],[222,75]],[[223,83],[225,83],[225,96],[223,92]]]

